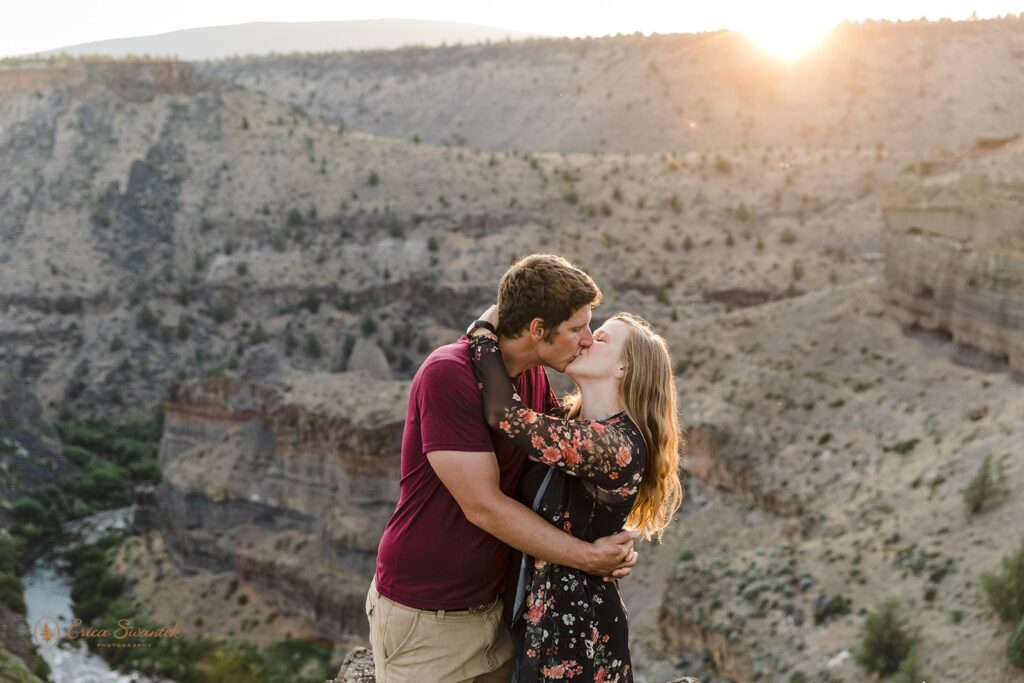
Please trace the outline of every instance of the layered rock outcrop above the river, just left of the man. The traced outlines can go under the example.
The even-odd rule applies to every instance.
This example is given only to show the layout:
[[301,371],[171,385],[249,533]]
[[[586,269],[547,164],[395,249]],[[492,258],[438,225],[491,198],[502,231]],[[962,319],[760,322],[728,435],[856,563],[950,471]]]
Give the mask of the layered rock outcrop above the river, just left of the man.
[[237,571],[321,637],[364,639],[408,383],[282,371],[267,349],[238,377],[172,388],[163,480],[137,493],[133,527],[159,529],[186,569]]

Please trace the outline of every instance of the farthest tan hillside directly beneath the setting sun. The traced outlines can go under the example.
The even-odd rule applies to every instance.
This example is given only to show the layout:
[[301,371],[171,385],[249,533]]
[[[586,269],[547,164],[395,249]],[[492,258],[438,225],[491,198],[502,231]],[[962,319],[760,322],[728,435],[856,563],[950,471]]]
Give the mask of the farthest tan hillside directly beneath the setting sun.
[[227,59],[347,128],[532,152],[955,151],[1021,132],[1024,18],[840,27],[788,67],[728,32]]

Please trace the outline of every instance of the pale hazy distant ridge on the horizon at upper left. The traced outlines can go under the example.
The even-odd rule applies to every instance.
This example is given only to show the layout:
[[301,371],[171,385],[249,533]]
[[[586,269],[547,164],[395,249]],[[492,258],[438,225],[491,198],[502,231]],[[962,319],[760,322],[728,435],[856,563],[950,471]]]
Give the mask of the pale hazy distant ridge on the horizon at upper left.
[[[455,22],[370,19],[359,22],[253,22],[182,29],[136,38],[80,43],[39,52],[72,56],[150,54],[181,59],[219,59],[233,55],[335,50],[394,49],[407,45],[481,43],[517,40],[530,34]],[[30,55],[25,55],[30,56]]]

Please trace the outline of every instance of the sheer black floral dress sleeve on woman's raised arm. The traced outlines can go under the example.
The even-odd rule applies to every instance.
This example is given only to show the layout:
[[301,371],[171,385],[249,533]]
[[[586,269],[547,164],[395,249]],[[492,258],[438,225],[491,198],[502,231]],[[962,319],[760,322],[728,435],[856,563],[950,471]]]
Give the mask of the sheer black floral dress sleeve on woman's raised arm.
[[593,420],[564,420],[523,404],[505,369],[498,342],[470,341],[473,372],[487,425],[531,460],[592,482],[613,498],[637,492],[643,476],[641,445],[623,429]]

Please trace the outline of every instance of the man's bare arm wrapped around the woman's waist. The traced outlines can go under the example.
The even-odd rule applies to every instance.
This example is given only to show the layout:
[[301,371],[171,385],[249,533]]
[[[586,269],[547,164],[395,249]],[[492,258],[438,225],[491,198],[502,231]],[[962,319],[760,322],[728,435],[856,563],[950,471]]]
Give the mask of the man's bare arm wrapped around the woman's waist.
[[587,543],[502,493],[494,453],[432,451],[427,460],[466,518],[513,548],[601,577],[626,577],[636,564],[629,531]]

